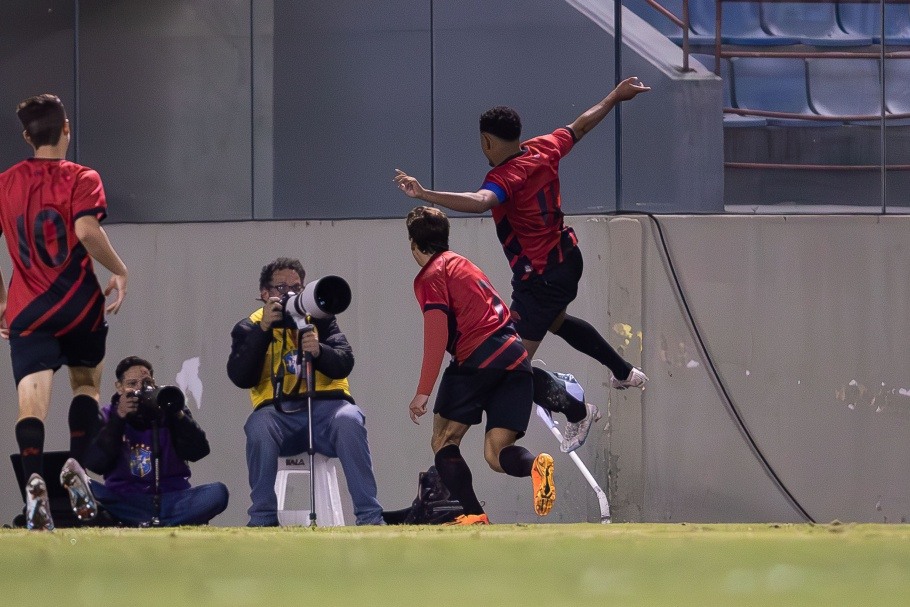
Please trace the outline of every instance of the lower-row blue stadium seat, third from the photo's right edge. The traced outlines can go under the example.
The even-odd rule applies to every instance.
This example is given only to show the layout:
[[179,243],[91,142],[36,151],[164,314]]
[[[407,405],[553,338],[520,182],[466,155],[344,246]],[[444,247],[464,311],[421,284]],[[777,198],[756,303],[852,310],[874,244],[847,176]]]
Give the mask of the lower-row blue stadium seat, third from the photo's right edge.
[[[730,60],[735,107],[805,116],[815,112],[809,104],[806,60],[789,57],[734,57]],[[768,118],[781,126],[829,126],[833,121]]]

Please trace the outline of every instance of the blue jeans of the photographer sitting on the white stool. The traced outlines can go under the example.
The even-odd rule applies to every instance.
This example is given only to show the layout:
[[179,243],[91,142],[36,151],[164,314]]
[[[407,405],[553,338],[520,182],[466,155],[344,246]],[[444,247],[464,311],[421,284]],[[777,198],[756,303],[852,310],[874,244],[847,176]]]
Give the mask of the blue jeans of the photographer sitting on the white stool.
[[[345,400],[313,400],[313,445],[317,453],[337,457],[344,470],[358,525],[380,525],[382,506],[376,499],[376,478],[367,444],[366,418],[360,407]],[[250,474],[248,511],[251,527],[278,524],[275,477],[278,458],[307,450],[306,405],[294,413],[266,406],[253,411],[244,425],[246,462]]]

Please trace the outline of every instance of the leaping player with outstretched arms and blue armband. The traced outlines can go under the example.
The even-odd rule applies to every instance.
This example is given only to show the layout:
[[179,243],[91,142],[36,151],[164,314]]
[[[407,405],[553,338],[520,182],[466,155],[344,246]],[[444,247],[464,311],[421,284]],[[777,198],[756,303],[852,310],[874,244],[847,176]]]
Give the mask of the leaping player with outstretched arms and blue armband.
[[[480,116],[480,144],[493,167],[476,192],[427,190],[396,170],[395,182],[411,198],[465,213],[492,211],[496,234],[512,268],[512,315],[533,358],[547,331],[607,366],[619,390],[644,388],[647,376],[626,362],[588,322],[567,314],[578,294],[583,261],[574,230],[563,223],[559,161],[621,101],[651,90],[627,78],[572,124],[521,142],[521,120],[512,108]],[[541,376],[542,377],[542,376]],[[547,407],[546,403],[538,403]],[[567,411],[563,451],[574,451],[599,417],[592,404]]]

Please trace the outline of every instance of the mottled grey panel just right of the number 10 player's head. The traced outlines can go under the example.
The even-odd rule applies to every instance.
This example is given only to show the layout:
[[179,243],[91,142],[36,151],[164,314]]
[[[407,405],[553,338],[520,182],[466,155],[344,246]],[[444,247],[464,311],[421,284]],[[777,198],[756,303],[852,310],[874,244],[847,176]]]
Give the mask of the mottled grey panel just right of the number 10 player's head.
[[111,220],[250,218],[249,2],[80,6],[80,159]]

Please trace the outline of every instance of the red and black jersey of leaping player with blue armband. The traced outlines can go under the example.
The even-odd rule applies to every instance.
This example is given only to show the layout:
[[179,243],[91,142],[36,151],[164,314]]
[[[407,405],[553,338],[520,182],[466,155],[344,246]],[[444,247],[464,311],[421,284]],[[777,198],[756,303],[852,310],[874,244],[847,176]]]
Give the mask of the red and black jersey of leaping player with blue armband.
[[575,134],[560,127],[522,143],[522,152],[487,173],[482,189],[493,192],[493,221],[503,251],[518,278],[540,274],[562,262],[578,244],[563,223],[559,160],[575,145]]

